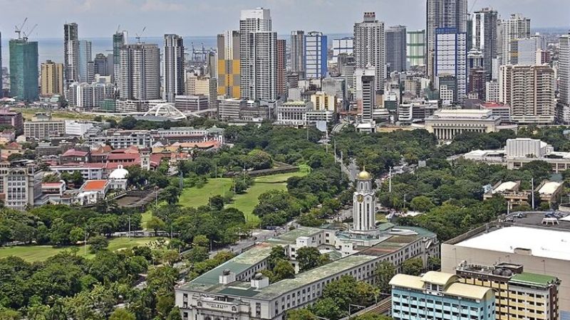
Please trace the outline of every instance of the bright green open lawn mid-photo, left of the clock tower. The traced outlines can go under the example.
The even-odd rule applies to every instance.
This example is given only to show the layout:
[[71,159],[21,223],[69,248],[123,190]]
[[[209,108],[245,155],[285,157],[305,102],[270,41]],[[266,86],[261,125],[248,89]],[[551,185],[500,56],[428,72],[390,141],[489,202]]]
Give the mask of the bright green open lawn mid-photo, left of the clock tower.
[[[289,174],[274,174],[272,176],[257,177],[255,178],[253,186],[247,189],[247,193],[234,196],[234,201],[229,203],[228,207],[241,210],[245,214],[247,223],[252,226],[257,226],[259,225],[259,218],[253,214],[253,210],[255,206],[257,206],[258,198],[261,193],[270,190],[286,190],[288,178],[291,176],[305,176],[306,174],[307,171],[298,171]],[[225,191],[229,191],[231,187],[231,178],[209,179],[202,188],[192,187],[182,191],[180,205],[185,207],[207,206],[210,197],[222,195]],[[145,221],[144,214],[142,220]]]

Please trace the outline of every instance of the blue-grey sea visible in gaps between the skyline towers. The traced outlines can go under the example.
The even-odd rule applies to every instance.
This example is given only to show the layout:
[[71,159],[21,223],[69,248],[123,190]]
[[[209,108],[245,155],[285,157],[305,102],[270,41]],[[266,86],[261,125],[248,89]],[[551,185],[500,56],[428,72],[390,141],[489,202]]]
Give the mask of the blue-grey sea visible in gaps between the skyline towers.
[[[331,46],[333,39],[336,38],[343,38],[346,36],[351,36],[350,34],[329,34],[328,36],[328,45]],[[184,38],[184,45],[186,47],[187,53],[192,53],[192,45],[196,50],[202,48],[216,48],[217,47],[217,37],[216,36],[183,36]],[[280,35],[279,38],[289,40],[289,35]],[[81,38],[81,40],[91,41],[91,53],[93,58],[95,58],[95,54],[97,53],[112,53],[113,52],[113,38]],[[140,39],[145,43],[157,43],[158,46],[162,50],[162,46],[164,46],[164,38],[163,37],[142,37]],[[39,63],[43,63],[46,60],[52,60],[55,63],[63,63],[63,38],[39,38],[33,39],[31,38],[30,41],[38,41],[38,61]],[[129,38],[129,43],[134,43],[136,39],[134,37]],[[9,38],[4,36],[2,37],[2,66],[4,68],[9,68],[9,47],[8,47]]]

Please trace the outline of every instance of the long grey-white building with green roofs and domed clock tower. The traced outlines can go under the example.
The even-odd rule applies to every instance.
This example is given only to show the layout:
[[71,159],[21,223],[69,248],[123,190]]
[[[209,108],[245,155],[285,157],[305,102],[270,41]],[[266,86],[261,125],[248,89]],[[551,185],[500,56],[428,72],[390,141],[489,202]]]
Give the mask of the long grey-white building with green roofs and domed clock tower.
[[[178,284],[175,299],[182,319],[282,320],[288,310],[315,302],[327,284],[343,275],[373,283],[380,262],[392,262],[400,270],[405,260],[419,257],[425,263],[429,257],[439,256],[434,233],[391,223],[376,224],[371,174],[358,174],[356,187],[353,225],[291,230]],[[301,247],[316,247],[333,261],[299,272],[294,279],[270,283],[261,270],[267,268],[271,248],[276,246],[283,247],[296,272],[296,252]]]

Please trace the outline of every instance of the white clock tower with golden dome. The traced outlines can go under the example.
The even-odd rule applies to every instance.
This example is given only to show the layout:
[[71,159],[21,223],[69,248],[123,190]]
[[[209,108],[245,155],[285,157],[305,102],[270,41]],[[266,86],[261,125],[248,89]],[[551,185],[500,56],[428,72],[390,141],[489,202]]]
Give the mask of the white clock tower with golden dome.
[[376,195],[372,188],[372,176],[363,169],[356,176],[356,192],[353,195],[353,230],[376,229]]

